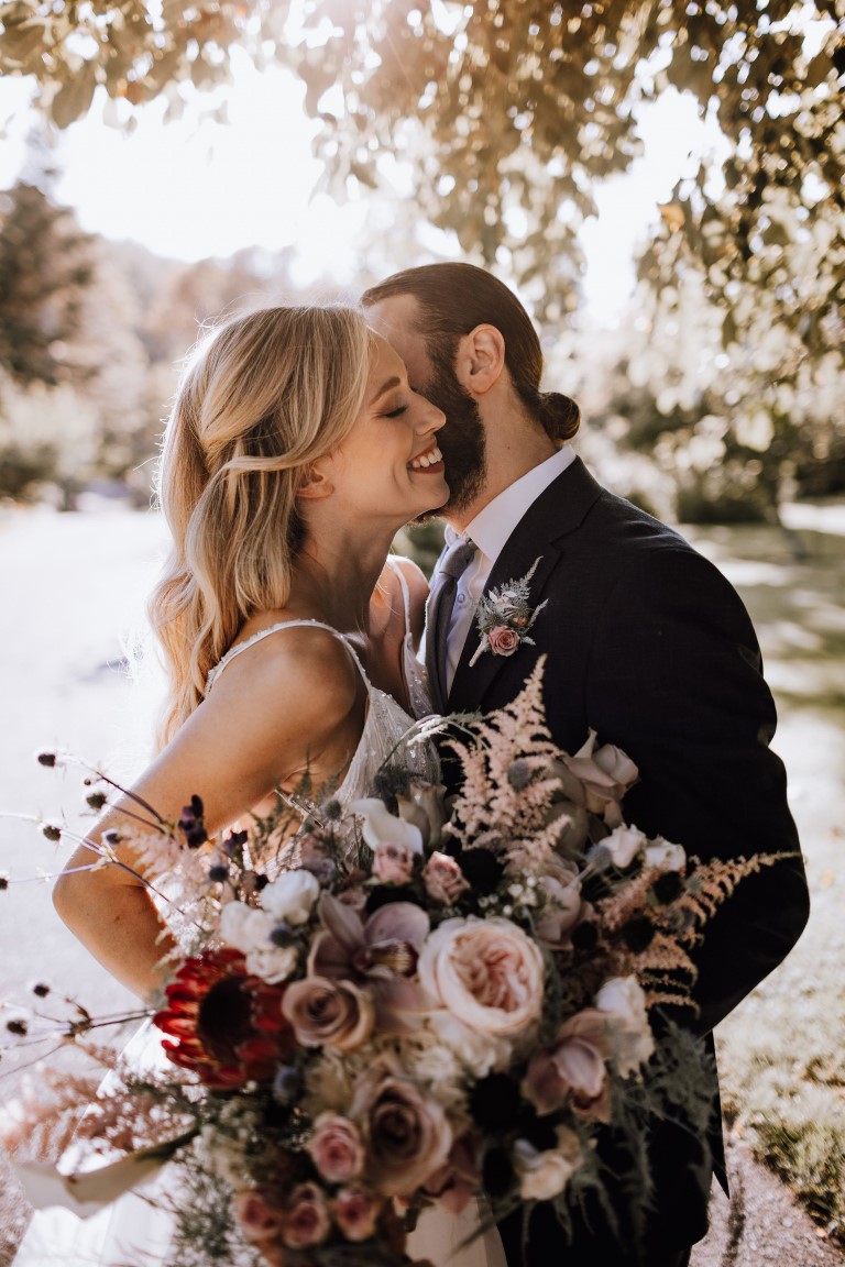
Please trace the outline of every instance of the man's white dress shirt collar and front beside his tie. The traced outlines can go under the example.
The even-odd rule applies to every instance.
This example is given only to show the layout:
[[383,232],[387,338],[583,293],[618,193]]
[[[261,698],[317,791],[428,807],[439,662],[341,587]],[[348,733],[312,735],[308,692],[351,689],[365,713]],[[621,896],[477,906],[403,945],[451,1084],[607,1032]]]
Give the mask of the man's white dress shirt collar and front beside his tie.
[[533,506],[541,493],[557,476],[575,461],[575,450],[571,445],[564,445],[540,462],[521,479],[509,484],[498,497],[484,507],[475,518],[466,525],[462,533],[455,532],[446,525],[446,545],[460,537],[474,541],[478,552],[464,574],[459,578],[455,594],[455,607],[448,623],[448,672],[446,674],[447,688],[451,691],[457,661],[461,658],[464,644],[470,635],[475,608],[479,598],[484,593],[488,576],[493,570],[495,560],[502,554],[508,537],[523,518],[526,512]]

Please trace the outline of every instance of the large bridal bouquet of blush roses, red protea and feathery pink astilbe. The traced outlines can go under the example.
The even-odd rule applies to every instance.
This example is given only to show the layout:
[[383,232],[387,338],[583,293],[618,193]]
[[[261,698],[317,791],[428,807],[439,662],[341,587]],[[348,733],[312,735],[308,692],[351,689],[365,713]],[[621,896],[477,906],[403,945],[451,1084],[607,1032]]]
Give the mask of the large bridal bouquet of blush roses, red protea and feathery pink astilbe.
[[[138,832],[180,944],[152,1016],[158,1060],[113,1073],[75,1140],[101,1150],[132,1119],[118,1187],[167,1159],[181,1171],[180,1263],[246,1245],[270,1264],[395,1267],[422,1211],[471,1201],[475,1226],[535,1201],[566,1225],[603,1192],[599,1133],[641,1167],[655,1115],[706,1134],[701,1049],[661,1007],[693,1006],[703,925],[773,859],[701,864],[627,825],[636,767],[594,734],[556,749],[541,679],[542,664],[451,740],[450,805],[400,749],[346,815],[308,802],[293,843],[271,820],[210,840],[198,798]],[[72,1025],[84,1041],[84,1016]],[[19,1109],[19,1134],[38,1111]],[[96,1202],[115,1166],[56,1183]]]

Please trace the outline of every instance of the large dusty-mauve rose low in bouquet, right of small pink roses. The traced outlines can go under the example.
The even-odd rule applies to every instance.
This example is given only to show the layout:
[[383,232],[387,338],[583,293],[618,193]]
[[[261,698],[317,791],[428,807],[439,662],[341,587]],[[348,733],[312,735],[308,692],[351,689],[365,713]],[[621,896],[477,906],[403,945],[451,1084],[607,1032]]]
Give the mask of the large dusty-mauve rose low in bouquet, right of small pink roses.
[[412,1196],[448,1158],[452,1130],[442,1105],[389,1057],[359,1077],[350,1112],[366,1142],[366,1176],[384,1196]]

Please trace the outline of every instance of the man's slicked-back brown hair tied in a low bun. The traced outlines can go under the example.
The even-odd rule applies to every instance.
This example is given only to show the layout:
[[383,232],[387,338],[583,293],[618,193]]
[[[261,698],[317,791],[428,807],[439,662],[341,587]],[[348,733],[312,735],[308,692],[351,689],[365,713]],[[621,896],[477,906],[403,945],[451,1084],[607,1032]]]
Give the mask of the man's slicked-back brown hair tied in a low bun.
[[440,374],[455,372],[457,345],[476,326],[495,326],[504,338],[504,364],[514,390],[546,433],[564,443],[578,431],[580,409],[560,392],[541,392],[540,338],[512,290],[473,264],[426,264],[394,272],[364,291],[365,308],[397,295],[413,295],[419,305],[419,333]]

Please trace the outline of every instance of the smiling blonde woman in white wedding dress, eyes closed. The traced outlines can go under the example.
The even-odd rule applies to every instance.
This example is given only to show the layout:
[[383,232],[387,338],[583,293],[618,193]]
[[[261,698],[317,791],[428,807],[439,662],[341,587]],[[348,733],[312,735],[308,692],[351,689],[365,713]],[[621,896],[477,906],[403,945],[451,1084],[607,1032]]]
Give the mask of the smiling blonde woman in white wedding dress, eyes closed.
[[[218,832],[266,813],[275,789],[305,770],[315,786],[342,775],[348,803],[410,715],[427,711],[414,654],[427,587],[389,549],[403,523],[448,497],[443,422],[352,308],[267,308],[200,347],[160,473],[172,551],[151,613],[168,703],[160,754],[133,787],[166,820],[198,794]],[[433,749],[417,754],[419,773],[436,778]],[[122,821],[118,803],[90,839]],[[129,844],[118,849],[142,867]],[[152,1000],[172,940],[129,870],[77,870],[90,860],[84,846],[70,859],[56,907],[109,972]],[[438,1267],[503,1262],[497,1235],[454,1254],[467,1230],[427,1214],[409,1253]],[[162,1262],[167,1243],[165,1216],[129,1197],[86,1221],[38,1213],[15,1264],[115,1267],[133,1252]]]

